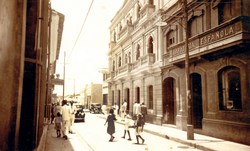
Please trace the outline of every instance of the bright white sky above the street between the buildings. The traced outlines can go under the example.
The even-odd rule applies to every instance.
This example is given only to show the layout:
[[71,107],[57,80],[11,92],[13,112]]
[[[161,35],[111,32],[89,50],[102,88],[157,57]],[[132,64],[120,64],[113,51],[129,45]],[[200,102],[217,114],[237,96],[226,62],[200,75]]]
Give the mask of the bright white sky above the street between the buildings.
[[[94,0],[81,35],[69,58],[77,36],[92,0],[51,0],[52,9],[65,15],[60,56],[57,71],[63,78],[64,51],[66,51],[65,95],[79,93],[86,84],[102,84],[102,74],[98,73],[108,63],[107,51],[111,19],[122,6],[124,0]],[[61,64],[59,64],[61,63]],[[56,86],[54,93],[62,95],[62,86]]]

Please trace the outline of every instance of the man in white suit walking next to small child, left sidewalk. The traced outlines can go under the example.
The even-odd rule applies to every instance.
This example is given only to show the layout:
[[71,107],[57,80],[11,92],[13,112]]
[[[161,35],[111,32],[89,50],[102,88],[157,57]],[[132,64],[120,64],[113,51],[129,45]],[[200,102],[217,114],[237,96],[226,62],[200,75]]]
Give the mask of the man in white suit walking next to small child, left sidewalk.
[[69,132],[69,117],[70,107],[67,105],[67,100],[62,101],[62,133],[63,138],[68,139]]

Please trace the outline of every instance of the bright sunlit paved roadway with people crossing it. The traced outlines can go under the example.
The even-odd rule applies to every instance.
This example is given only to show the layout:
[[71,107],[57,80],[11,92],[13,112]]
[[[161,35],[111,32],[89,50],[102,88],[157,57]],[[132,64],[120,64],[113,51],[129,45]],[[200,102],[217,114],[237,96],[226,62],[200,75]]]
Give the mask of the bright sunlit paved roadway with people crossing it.
[[105,120],[97,117],[97,115],[98,114],[86,113],[84,123],[75,123],[76,131],[94,151],[198,151],[196,148],[146,132],[141,134],[141,136],[145,139],[144,144],[135,144],[135,130],[132,128],[130,129],[132,141],[127,140],[127,134],[126,139],[123,139],[121,136],[124,134],[124,125],[118,123],[115,123],[115,139],[113,142],[109,142],[108,140],[110,139],[110,135],[107,134],[107,124],[104,126]]

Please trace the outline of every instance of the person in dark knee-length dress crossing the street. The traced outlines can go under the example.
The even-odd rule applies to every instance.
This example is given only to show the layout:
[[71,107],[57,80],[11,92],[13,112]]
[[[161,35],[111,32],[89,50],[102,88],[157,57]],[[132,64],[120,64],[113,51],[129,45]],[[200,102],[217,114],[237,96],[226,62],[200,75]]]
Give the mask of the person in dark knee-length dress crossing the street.
[[114,140],[114,136],[113,134],[115,133],[115,123],[114,121],[116,121],[115,115],[114,115],[114,110],[110,109],[109,110],[109,115],[107,117],[107,120],[104,124],[104,126],[106,125],[106,123],[108,123],[108,127],[107,127],[107,133],[110,135],[110,142],[112,142]]

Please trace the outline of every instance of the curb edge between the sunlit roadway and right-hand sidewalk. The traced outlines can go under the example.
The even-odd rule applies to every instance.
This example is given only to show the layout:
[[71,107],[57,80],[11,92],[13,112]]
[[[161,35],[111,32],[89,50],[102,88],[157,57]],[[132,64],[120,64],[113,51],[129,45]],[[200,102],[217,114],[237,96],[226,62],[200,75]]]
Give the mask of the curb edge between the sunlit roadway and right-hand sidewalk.
[[[102,118],[102,119],[106,119],[105,117],[100,116],[100,115],[97,115],[97,117]],[[120,122],[120,121],[115,121],[115,123],[125,125],[125,123]],[[214,149],[211,149],[211,148],[208,148],[208,147],[205,147],[205,146],[202,146],[202,145],[198,145],[196,143],[192,143],[192,142],[189,142],[189,141],[186,141],[186,140],[182,140],[182,139],[179,139],[179,138],[176,138],[176,137],[168,136],[166,134],[155,132],[155,131],[149,130],[147,128],[144,128],[144,131],[147,132],[147,133],[150,133],[150,134],[153,134],[153,135],[156,135],[156,136],[160,136],[160,137],[163,137],[165,139],[169,139],[169,140],[181,143],[181,144],[188,145],[190,147],[194,147],[194,148],[197,148],[197,149],[204,150],[204,151],[216,151]]]

